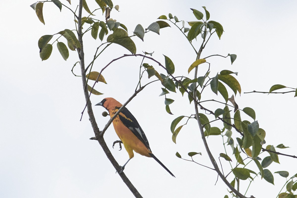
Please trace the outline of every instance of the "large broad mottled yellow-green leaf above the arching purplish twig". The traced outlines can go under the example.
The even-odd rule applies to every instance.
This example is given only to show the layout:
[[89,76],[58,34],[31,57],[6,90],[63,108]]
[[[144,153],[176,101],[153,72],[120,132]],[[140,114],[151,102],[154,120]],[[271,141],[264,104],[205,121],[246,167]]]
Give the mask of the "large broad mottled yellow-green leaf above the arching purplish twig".
[[129,50],[132,54],[136,53],[136,46],[132,39],[128,37],[128,33],[120,28],[115,29],[113,34],[110,34],[107,37],[107,42],[116,43],[118,45],[121,45],[125,47],[127,50]]

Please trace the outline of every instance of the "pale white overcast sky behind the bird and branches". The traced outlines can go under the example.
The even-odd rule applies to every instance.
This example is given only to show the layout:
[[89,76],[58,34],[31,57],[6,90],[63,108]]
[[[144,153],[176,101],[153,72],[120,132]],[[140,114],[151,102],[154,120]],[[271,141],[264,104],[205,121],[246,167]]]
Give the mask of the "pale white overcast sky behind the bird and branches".
[[[61,1],[67,4],[67,1]],[[48,60],[41,61],[39,57],[37,41],[42,35],[55,34],[65,28],[74,29],[71,13],[65,8],[59,12],[55,5],[46,3],[44,26],[29,7],[33,3],[0,2],[0,197],[132,197],[99,144],[89,140],[94,133],[87,114],[79,121],[85,100],[80,78],[71,73],[73,64],[78,61],[77,53],[70,52],[69,59],[64,61],[54,44]],[[88,0],[87,3],[90,8],[97,5],[95,1]],[[71,7],[75,9],[76,4],[77,1],[73,0]],[[237,54],[232,66],[229,58],[209,58],[207,61],[211,62],[213,69],[210,75],[214,76],[223,69],[238,72],[237,79],[242,89],[241,96],[236,96],[239,108],[252,107],[256,111],[256,120],[266,131],[266,145],[282,143],[291,148],[277,151],[296,155],[294,94],[243,94],[253,90],[268,91],[274,84],[296,86],[296,1],[114,0],[113,4],[119,4],[120,12],[111,12],[111,18],[124,23],[129,35],[137,24],[146,28],[160,15],[168,13],[176,15],[179,20],[196,20],[189,8],[204,13],[202,6],[206,6],[210,20],[221,23],[225,32],[221,40],[214,36],[201,56]],[[153,58],[162,63],[162,54],[170,57],[176,66],[176,74],[187,75],[189,65],[195,61],[195,53],[187,39],[173,26],[161,29],[160,35],[149,32],[144,37],[145,42],[136,37],[133,40],[137,53],[154,51]],[[86,35],[87,63],[100,43],[99,39],[95,41]],[[198,46],[199,41],[194,45]],[[129,52],[120,46],[110,47],[102,53],[94,71],[99,71],[124,53]],[[108,84],[96,85],[104,95],[92,96],[92,103],[96,104],[104,97],[114,97],[124,103],[135,90],[140,63],[141,58],[125,58],[112,64],[103,74]],[[157,65],[154,67],[164,73]],[[79,74],[78,67],[74,71]],[[191,73],[189,77],[192,77]],[[145,82],[148,81],[145,79]],[[184,126],[178,134],[177,144],[172,142],[171,121],[194,111],[187,97],[180,98],[180,93],[177,93],[168,95],[176,102],[170,105],[174,115],[167,114],[164,96],[159,97],[160,87],[159,83],[152,84],[127,108],[145,131],[153,153],[176,178],[153,159],[138,154],[127,164],[124,172],[143,197],[224,197],[228,191],[221,180],[214,186],[215,172],[175,156],[176,151],[183,157],[188,152],[202,152],[202,156],[195,157],[195,160],[211,166],[195,122]],[[206,98],[213,96],[209,91]],[[218,99],[222,98],[218,96]],[[208,107],[213,105],[207,104]],[[217,104],[215,107],[223,108]],[[99,128],[103,129],[108,121],[101,116],[104,109],[96,106],[93,110]],[[236,134],[235,137],[240,136]],[[119,164],[124,164],[128,159],[126,151],[112,148],[112,142],[118,140],[113,127],[105,133],[105,140]],[[223,151],[221,137],[209,137],[208,142],[217,159]],[[268,153],[260,155],[262,159],[265,156]],[[279,156],[279,161],[281,164],[273,163],[268,169],[271,172],[287,170],[290,176],[296,174],[296,159]],[[222,165],[225,173],[230,171],[227,162],[222,161]],[[254,165],[247,168],[257,172]],[[228,179],[233,180],[231,175]],[[257,178],[247,196],[276,197],[285,178],[274,174],[274,183],[275,186]],[[241,184],[240,190],[244,193],[248,183],[241,181]]]

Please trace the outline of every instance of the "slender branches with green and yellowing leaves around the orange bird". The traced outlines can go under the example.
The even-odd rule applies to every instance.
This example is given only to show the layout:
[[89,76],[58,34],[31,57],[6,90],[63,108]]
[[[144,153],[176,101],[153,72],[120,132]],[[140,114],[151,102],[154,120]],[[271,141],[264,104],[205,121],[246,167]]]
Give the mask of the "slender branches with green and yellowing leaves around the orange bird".
[[[67,1],[69,2],[69,4],[71,3],[70,0],[67,0]],[[249,180],[249,186],[250,186],[252,181],[254,181],[254,179],[258,175],[260,175],[261,179],[264,178],[269,183],[274,184],[273,174],[271,173],[270,170],[265,168],[267,168],[272,162],[279,163],[279,159],[278,159],[279,154],[285,155],[283,153],[277,152],[275,148],[283,149],[287,147],[285,147],[282,144],[279,144],[276,147],[274,147],[273,145],[267,145],[266,148],[263,148],[263,145],[266,143],[265,141],[266,132],[263,129],[259,128],[259,123],[258,121],[256,121],[255,111],[250,107],[245,107],[242,110],[239,109],[238,104],[235,101],[235,97],[233,95],[230,96],[231,91],[234,93],[235,96],[238,93],[241,94],[240,83],[236,80],[236,76],[238,75],[238,73],[232,72],[227,69],[224,69],[222,71],[213,71],[213,69],[211,69],[211,63],[208,62],[208,59],[210,57],[221,56],[221,57],[227,58],[228,56],[230,56],[231,64],[233,64],[233,62],[236,60],[236,57],[237,57],[236,54],[228,54],[227,56],[210,55],[205,58],[200,58],[201,53],[203,49],[206,47],[206,44],[208,43],[211,36],[214,33],[216,33],[219,39],[221,39],[221,36],[224,32],[223,27],[219,22],[214,20],[209,20],[210,13],[206,9],[206,7],[203,7],[205,11],[205,16],[202,12],[196,9],[191,9],[197,21],[188,22],[189,27],[185,26],[184,20],[180,21],[176,16],[173,16],[172,14],[169,14],[168,17],[166,15],[161,15],[159,17],[160,20],[154,23],[151,23],[146,29],[144,29],[142,25],[138,24],[135,27],[135,30],[133,31],[133,35],[129,36],[127,27],[124,24],[119,23],[117,20],[110,18],[110,11],[112,9],[116,9],[117,11],[119,11],[119,6],[118,5],[113,6],[113,3],[111,0],[95,0],[95,1],[97,2],[99,7],[94,9],[93,11],[89,9],[85,0],[79,1],[79,5],[75,11],[73,11],[71,8],[67,7],[66,5],[62,4],[59,0],[39,1],[32,4],[31,7],[36,11],[37,17],[43,24],[45,24],[43,19],[43,4],[46,2],[54,3],[60,9],[60,11],[62,9],[62,6],[64,6],[67,9],[69,9],[71,13],[74,15],[75,30],[64,29],[62,31],[59,31],[58,33],[51,34],[51,35],[44,35],[40,37],[40,39],[38,40],[38,47],[40,49],[40,58],[43,61],[50,57],[51,52],[53,50],[53,44],[55,42],[57,42],[57,48],[65,61],[69,57],[68,49],[72,51],[77,51],[80,68],[81,68],[83,91],[86,98],[85,109],[87,108],[88,110],[88,115],[91,121],[91,125],[94,129],[94,133],[96,136],[93,139],[98,140],[99,144],[102,146],[102,149],[105,151],[108,159],[111,161],[111,163],[116,168],[116,170],[119,172],[120,170],[119,164],[110,154],[110,151],[103,139],[103,134],[105,130],[108,128],[108,126],[110,125],[110,123],[112,122],[112,120],[117,116],[118,113],[121,112],[121,109],[124,106],[126,106],[140,91],[142,91],[147,85],[153,82],[160,81],[162,84],[162,87],[161,87],[162,93],[160,94],[160,96],[165,96],[165,110],[167,111],[167,113],[173,114],[170,110],[169,105],[173,104],[174,100],[168,98],[171,92],[176,93],[176,91],[179,91],[181,93],[181,96],[186,95],[188,97],[190,104],[192,102],[194,103],[193,110],[195,111],[195,113],[192,112],[189,115],[178,116],[172,121],[170,130],[172,132],[173,142],[176,143],[177,135],[179,134],[179,132],[182,131],[183,126],[188,123],[189,119],[196,120],[198,123],[197,131],[198,132],[200,131],[201,133],[204,146],[206,148],[209,159],[213,165],[213,168],[211,167],[209,168],[211,170],[216,171],[219,177],[229,187],[230,189],[229,193],[231,197],[245,197],[245,194],[242,194],[239,191],[240,180]],[[82,16],[83,8],[87,13],[86,16]],[[103,18],[103,20],[99,20],[94,15],[94,13],[98,10],[102,10],[102,13],[105,12],[105,17]],[[190,46],[196,53],[195,61],[189,66],[186,73],[186,75],[189,75],[190,73],[192,74],[194,71],[192,78],[185,77],[184,74],[174,76],[173,74],[175,73],[175,65],[173,64],[173,61],[168,56],[164,55],[164,63],[165,63],[165,66],[164,66],[154,58],[147,56],[147,55],[152,56],[153,53],[145,52],[144,55],[136,54],[136,45],[131,38],[136,36],[143,41],[144,35],[149,31],[159,34],[159,31],[161,28],[170,27],[170,25],[167,22],[172,23],[181,31],[181,33],[187,38],[187,41],[189,42]],[[85,67],[86,60],[84,59],[84,53],[83,53],[83,36],[89,31],[91,31],[91,37],[94,38],[95,40],[99,37],[101,44],[97,47],[97,50],[94,53],[94,58],[90,60],[89,65]],[[57,35],[56,36],[57,38],[53,39],[55,35]],[[105,36],[107,36],[106,42],[102,42]],[[63,37],[64,39],[66,39],[67,45],[64,44],[65,41],[64,42],[61,41]],[[193,41],[194,39],[199,40],[199,38],[202,39],[202,42],[200,45],[198,45],[198,48],[196,48],[195,43],[193,43]],[[50,44],[49,42],[52,40],[53,42]],[[92,68],[94,66],[96,59],[104,50],[106,50],[112,44],[121,45],[132,54],[131,55],[124,54],[121,57],[113,59],[112,61],[110,61],[109,64],[103,67],[100,72],[92,71]],[[110,66],[114,61],[117,61],[124,57],[129,57],[129,56],[143,57],[142,62],[140,64],[139,82],[138,82],[137,88],[135,90],[135,93],[129,98],[129,100],[126,103],[124,103],[123,107],[119,109],[118,113],[114,115],[113,118],[110,119],[110,121],[105,126],[105,128],[102,131],[99,131],[97,123],[95,121],[95,117],[93,115],[93,111],[90,103],[90,97],[91,97],[91,94],[101,95],[102,93],[95,90],[94,86],[97,82],[106,83],[105,78],[102,75],[102,72],[104,71],[105,68]],[[152,61],[152,63],[144,62],[145,59],[148,61]],[[153,66],[154,64],[157,64],[157,66]],[[74,64],[74,66],[75,65],[76,63]],[[198,72],[198,68],[203,66],[206,66],[206,68],[208,68],[207,71]],[[162,71],[165,71],[166,75],[162,74],[160,72],[160,69],[162,69]],[[152,80],[149,83],[141,86],[141,81],[142,81],[144,72],[147,72],[149,79],[154,76],[157,78],[157,80]],[[95,81],[93,86],[88,85],[88,80]],[[226,85],[228,89],[226,88]],[[285,86],[274,85],[271,87],[269,93],[273,93],[273,91],[280,88],[285,88]],[[212,91],[216,95],[220,94],[223,100],[221,101],[215,100],[215,99],[203,100],[203,98],[206,97],[207,94],[209,93],[208,91]],[[228,103],[228,101],[231,104]],[[205,103],[208,103],[208,104],[217,103],[219,105],[222,105],[222,108],[208,109],[205,106],[203,106]],[[199,113],[200,110],[198,110],[198,108],[200,108],[200,110],[202,110],[201,112],[203,113],[201,112]],[[232,110],[230,110],[230,108],[232,108],[232,110],[234,108],[233,113],[231,113]],[[250,121],[248,120],[242,121],[241,113],[248,115],[251,118]],[[180,124],[184,118],[186,118],[186,121],[184,121],[183,124]],[[216,126],[211,126],[213,123],[217,123],[218,121],[222,122],[221,129]],[[235,141],[233,139],[234,137],[233,132],[240,134],[242,137],[234,138],[236,139]],[[222,145],[224,147],[224,151],[219,154],[211,153],[210,148],[208,147],[208,144],[206,141],[206,137],[215,136],[215,135],[222,137]],[[227,152],[226,145],[230,145],[232,152],[230,153]],[[259,157],[259,155],[265,152],[267,152],[269,156],[264,157],[262,160]],[[191,160],[188,160],[188,159],[184,159],[184,160],[193,161],[197,163],[193,159],[193,156],[197,154],[201,154],[201,153],[189,152],[188,155],[191,157]],[[243,159],[242,155],[245,155],[246,158]],[[176,153],[176,156],[179,158],[182,158],[178,152]],[[230,162],[230,168],[229,168],[230,172],[227,175],[224,174],[222,165],[219,168],[218,163],[215,160],[214,156],[219,157],[219,159],[223,158]],[[291,156],[291,157],[296,158],[296,156]],[[232,159],[236,161],[236,164],[231,163]],[[252,161],[255,163],[255,165],[258,168],[255,171],[250,170],[251,168],[247,167],[248,164]],[[224,168],[224,170],[226,172],[226,170],[228,169]],[[232,173],[234,177],[229,180],[227,179],[227,176],[230,173]],[[289,173],[287,171],[278,171],[275,173],[285,178],[289,177]],[[128,180],[126,175],[124,173],[120,173],[119,175],[121,176],[123,181],[127,184],[127,186],[135,195],[135,197],[141,197],[140,193]],[[294,191],[296,191],[297,189],[296,177],[297,177],[297,174],[293,175],[286,181],[284,186],[286,186],[287,191],[280,193],[278,197],[284,198],[284,197],[297,196],[297,195],[294,195],[295,193]],[[247,193],[247,189],[245,193]],[[225,198],[227,197],[228,195],[225,195]]]

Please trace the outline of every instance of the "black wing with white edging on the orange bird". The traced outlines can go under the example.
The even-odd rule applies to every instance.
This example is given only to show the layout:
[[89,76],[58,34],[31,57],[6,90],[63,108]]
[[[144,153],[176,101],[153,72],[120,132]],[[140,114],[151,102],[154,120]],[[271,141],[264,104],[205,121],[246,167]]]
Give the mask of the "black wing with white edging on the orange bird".
[[[120,107],[118,107],[120,108]],[[123,124],[130,129],[133,134],[138,137],[138,139],[143,142],[144,145],[151,151],[151,148],[149,147],[149,141],[146,138],[146,135],[144,134],[143,130],[141,129],[138,121],[136,118],[132,115],[132,113],[124,107],[123,111],[119,113],[119,118],[123,122]]]

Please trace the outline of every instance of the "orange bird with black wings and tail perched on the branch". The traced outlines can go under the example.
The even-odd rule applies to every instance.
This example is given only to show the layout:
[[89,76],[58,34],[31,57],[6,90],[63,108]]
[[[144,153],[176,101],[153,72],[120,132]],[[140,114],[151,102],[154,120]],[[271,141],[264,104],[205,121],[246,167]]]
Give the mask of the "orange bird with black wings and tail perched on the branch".
[[[113,115],[115,115],[115,113],[123,106],[113,98],[105,98],[95,105],[105,107],[105,109],[107,109],[109,112],[110,118],[112,118]],[[154,158],[163,168],[165,168],[165,170],[170,173],[170,175],[175,177],[172,172],[170,172],[170,170],[168,170],[168,168],[166,168],[164,164],[162,164],[162,162],[151,152],[146,135],[138,124],[138,121],[126,107],[124,107],[123,111],[121,111],[121,113],[116,116],[112,123],[116,134],[123,142],[124,147],[129,154],[128,161],[134,157],[134,150],[140,155]],[[122,170],[124,170],[124,167],[128,161],[124,164],[124,166],[121,167]]]

